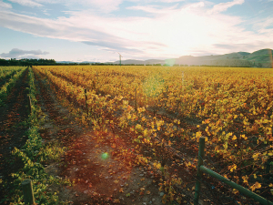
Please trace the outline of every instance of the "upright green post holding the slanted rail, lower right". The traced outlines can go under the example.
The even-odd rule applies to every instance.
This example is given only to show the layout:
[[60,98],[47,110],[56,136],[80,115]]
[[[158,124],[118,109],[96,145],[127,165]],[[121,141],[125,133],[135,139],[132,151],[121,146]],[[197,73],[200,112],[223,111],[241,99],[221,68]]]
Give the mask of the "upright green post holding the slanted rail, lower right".
[[196,182],[196,191],[195,191],[195,199],[194,204],[198,205],[199,195],[200,195],[200,180],[202,176],[202,172],[200,170],[200,166],[203,165],[203,159],[205,155],[205,138],[199,138],[199,150],[198,150],[198,163],[197,163],[197,182]]

